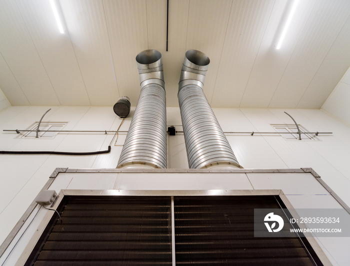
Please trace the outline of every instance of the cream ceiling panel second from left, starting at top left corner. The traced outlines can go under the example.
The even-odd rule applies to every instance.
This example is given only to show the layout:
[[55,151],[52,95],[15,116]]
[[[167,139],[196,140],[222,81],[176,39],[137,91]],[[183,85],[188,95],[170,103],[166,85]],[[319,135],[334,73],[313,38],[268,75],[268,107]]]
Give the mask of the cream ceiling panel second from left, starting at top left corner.
[[29,104],[59,105],[27,26],[15,1],[0,1],[0,52]]

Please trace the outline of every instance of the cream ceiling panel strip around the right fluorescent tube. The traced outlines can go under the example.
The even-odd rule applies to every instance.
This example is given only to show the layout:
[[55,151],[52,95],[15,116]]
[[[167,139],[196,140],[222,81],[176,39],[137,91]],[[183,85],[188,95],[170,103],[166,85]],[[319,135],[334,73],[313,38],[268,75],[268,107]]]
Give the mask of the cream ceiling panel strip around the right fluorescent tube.
[[293,1],[275,1],[240,104],[266,108],[284,73],[316,0],[299,1],[280,49],[276,49]]

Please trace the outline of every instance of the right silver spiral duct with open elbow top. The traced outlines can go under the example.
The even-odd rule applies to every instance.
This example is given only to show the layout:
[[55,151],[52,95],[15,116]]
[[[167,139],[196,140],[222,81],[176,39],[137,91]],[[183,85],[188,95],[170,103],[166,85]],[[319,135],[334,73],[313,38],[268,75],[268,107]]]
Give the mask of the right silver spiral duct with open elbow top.
[[204,53],[188,50],[181,69],[177,96],[188,166],[241,167],[202,89],[209,62]]

